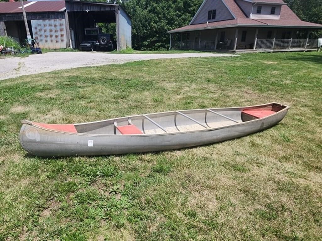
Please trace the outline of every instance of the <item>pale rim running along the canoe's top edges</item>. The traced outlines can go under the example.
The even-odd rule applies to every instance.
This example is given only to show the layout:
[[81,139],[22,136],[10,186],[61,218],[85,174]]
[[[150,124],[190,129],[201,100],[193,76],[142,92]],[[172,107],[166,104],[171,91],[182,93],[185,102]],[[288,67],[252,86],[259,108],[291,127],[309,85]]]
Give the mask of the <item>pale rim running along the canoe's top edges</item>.
[[[244,124],[248,124],[248,123],[252,123],[252,122],[256,122],[256,121],[262,121],[265,120],[267,118],[270,118],[272,116],[275,115],[279,115],[282,112],[288,111],[288,109],[290,108],[288,105],[282,105],[276,102],[272,102],[272,103],[267,103],[267,104],[261,104],[261,105],[253,105],[253,106],[242,106],[242,107],[228,107],[228,108],[208,108],[210,110],[221,110],[221,109],[242,109],[242,108],[254,108],[254,107],[265,107],[265,106],[269,106],[269,105],[273,105],[273,104],[278,104],[281,106],[285,106],[284,109],[271,114],[269,116],[263,117],[263,118],[259,118],[259,119],[255,119],[255,120],[251,120],[251,121],[246,121],[246,122],[240,122],[240,123],[232,123],[231,125],[226,125],[226,126],[221,126],[221,127],[215,127],[215,128],[207,128],[207,129],[200,129],[200,130],[191,130],[191,131],[180,131],[180,132],[166,132],[166,133],[154,133],[154,134],[129,134],[129,135],[122,135],[122,134],[90,134],[90,133],[74,133],[74,132],[66,132],[66,131],[59,131],[59,130],[53,130],[53,129],[48,129],[45,127],[41,127],[38,126],[36,124],[34,124],[32,121],[28,121],[28,120],[23,120],[21,121],[23,124],[28,124],[31,125],[33,127],[39,128],[39,129],[43,129],[46,131],[50,131],[50,132],[55,132],[55,133],[61,133],[61,134],[68,134],[68,135],[79,135],[79,136],[89,136],[89,137],[124,137],[124,138],[128,138],[128,137],[140,137],[140,136],[164,136],[164,135],[178,135],[178,134],[183,134],[183,133],[193,133],[193,132],[204,132],[204,131],[213,131],[216,129],[224,129],[224,128],[229,128],[231,126],[238,126],[238,125],[244,125]],[[181,110],[178,112],[182,112],[182,111],[207,111],[207,109],[196,109],[196,110]],[[151,113],[149,115],[153,115],[153,114],[159,114],[159,113],[172,113],[172,112],[176,112],[176,111],[170,111],[170,112],[158,112],[158,113]],[[115,119],[108,119],[108,120],[103,120],[103,121],[111,121],[111,120],[117,120],[117,119],[123,119],[123,118],[133,118],[136,116],[144,116],[144,114],[142,115],[134,115],[134,116],[127,116],[127,117],[120,117],[120,118],[115,118]],[[86,122],[86,123],[78,123],[78,124],[74,124],[74,125],[80,125],[80,124],[90,124],[90,123],[97,123],[97,122],[101,122],[101,121],[93,121],[93,122]],[[24,125],[23,125],[24,126]],[[22,134],[23,129],[21,129],[20,133]],[[21,138],[21,137],[20,137]],[[21,142],[22,143],[22,142]]]

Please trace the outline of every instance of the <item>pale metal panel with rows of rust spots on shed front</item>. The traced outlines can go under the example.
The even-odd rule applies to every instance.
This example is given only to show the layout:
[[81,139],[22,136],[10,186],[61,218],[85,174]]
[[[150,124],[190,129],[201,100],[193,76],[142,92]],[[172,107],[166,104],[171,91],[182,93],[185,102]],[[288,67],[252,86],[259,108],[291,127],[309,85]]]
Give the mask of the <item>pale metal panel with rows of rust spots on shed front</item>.
[[41,48],[66,48],[65,19],[31,20],[33,38]]

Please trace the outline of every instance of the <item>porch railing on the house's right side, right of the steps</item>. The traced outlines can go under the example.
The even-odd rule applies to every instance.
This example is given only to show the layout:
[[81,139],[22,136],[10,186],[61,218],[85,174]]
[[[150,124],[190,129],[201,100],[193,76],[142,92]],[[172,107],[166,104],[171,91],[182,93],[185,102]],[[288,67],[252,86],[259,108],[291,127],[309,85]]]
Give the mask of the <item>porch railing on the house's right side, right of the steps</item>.
[[258,39],[256,49],[313,49],[317,39]]

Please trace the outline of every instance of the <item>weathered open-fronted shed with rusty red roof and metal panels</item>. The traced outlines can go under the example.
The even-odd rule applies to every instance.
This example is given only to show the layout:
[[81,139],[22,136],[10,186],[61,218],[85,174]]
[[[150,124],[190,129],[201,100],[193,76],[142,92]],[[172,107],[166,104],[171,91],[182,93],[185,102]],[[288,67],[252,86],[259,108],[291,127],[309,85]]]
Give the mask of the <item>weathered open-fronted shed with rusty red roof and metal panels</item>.
[[[74,0],[24,1],[27,23],[41,48],[78,48],[85,28],[115,22],[117,48],[131,47],[131,19],[118,4]],[[27,38],[21,2],[0,2],[0,35],[22,43]]]

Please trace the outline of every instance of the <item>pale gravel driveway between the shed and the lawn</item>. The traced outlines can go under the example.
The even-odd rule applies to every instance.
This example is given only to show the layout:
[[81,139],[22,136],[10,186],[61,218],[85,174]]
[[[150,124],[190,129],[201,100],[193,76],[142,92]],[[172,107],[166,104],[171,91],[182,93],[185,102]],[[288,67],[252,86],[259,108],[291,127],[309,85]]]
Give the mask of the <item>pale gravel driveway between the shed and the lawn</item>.
[[218,53],[110,54],[98,52],[49,52],[42,55],[30,55],[26,58],[0,59],[0,80],[23,75],[50,72],[53,70],[108,64],[123,64],[138,60],[229,56],[236,55]]

